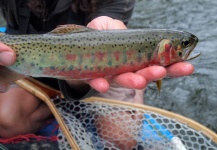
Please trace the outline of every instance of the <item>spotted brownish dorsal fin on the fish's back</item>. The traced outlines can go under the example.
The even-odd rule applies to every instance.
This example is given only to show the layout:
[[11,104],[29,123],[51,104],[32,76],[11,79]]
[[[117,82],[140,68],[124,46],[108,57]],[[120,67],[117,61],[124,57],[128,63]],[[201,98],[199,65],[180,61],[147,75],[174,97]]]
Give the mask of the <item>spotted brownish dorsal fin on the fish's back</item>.
[[63,35],[63,34],[70,34],[70,33],[79,33],[79,32],[89,32],[93,31],[93,29],[75,25],[75,24],[67,24],[67,25],[59,25],[57,28],[49,32],[50,34],[57,34],[57,35]]

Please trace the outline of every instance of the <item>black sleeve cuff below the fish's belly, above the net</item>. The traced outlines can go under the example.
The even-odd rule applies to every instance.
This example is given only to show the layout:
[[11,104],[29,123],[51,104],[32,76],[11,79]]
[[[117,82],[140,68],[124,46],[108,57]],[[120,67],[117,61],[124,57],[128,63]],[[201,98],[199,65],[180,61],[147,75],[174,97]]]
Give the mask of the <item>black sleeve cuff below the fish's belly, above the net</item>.
[[65,99],[67,100],[81,100],[84,98],[91,97],[92,95],[97,93],[96,90],[90,88],[86,94],[81,95],[77,91],[75,91],[73,88],[69,87],[69,85],[64,80],[59,80],[59,87]]

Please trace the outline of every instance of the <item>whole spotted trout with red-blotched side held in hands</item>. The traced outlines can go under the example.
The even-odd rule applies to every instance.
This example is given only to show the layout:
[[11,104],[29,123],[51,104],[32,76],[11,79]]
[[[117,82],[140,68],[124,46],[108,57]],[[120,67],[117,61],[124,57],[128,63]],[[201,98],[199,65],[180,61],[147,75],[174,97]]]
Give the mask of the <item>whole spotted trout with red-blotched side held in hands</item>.
[[0,42],[17,58],[12,66],[0,66],[0,91],[28,76],[87,80],[200,55],[189,58],[198,43],[195,35],[169,29],[95,30],[67,24],[45,34],[1,33]]

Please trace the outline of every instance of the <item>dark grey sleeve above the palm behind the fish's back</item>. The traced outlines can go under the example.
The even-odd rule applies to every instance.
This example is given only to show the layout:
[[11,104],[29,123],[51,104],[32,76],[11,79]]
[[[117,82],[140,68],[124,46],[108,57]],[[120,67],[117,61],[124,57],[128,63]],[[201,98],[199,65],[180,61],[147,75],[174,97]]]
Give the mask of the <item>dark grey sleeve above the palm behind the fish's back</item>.
[[89,23],[99,16],[108,16],[127,24],[132,15],[135,1],[136,0],[104,0],[99,4],[96,12],[87,17],[86,23]]

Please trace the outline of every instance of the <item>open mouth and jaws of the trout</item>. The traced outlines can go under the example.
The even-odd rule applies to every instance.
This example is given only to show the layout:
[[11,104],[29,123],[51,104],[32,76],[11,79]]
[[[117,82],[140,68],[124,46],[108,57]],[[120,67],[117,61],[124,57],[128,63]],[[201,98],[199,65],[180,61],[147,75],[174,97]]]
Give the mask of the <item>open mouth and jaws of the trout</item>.
[[[190,54],[191,54],[191,52],[194,50],[194,48],[196,47],[196,45],[197,45],[197,43],[198,43],[198,38],[196,37],[196,36],[194,36],[194,37],[192,37],[193,38],[193,44],[190,46],[190,47],[188,47],[188,48],[186,48],[185,49],[185,54],[184,54],[184,56],[183,56],[183,60],[184,61],[187,61],[187,60],[192,60],[192,59],[194,59],[194,58],[196,58],[196,57],[198,57],[198,56],[200,56],[200,52],[198,52],[198,53],[195,53],[193,56],[190,56]],[[189,57],[190,56],[190,57]]]

